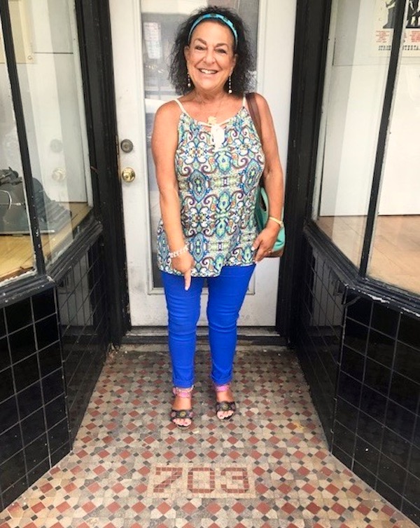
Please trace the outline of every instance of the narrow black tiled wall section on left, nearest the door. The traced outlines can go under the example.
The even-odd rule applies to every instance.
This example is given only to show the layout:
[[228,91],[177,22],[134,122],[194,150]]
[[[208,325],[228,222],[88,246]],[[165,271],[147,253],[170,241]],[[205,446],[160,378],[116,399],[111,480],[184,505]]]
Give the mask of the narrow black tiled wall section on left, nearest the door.
[[109,346],[105,270],[98,244],[59,282],[57,298],[73,442]]

